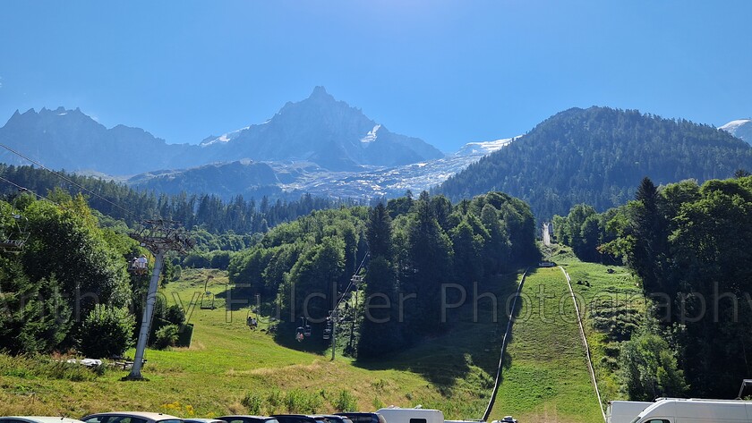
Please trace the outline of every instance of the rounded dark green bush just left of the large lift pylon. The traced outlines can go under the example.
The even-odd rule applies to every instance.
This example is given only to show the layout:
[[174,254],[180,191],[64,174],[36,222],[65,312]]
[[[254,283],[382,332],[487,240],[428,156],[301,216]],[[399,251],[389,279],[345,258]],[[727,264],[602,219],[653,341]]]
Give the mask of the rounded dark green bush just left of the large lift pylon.
[[97,304],[79,328],[78,351],[90,359],[122,355],[133,344],[134,326],[128,309]]

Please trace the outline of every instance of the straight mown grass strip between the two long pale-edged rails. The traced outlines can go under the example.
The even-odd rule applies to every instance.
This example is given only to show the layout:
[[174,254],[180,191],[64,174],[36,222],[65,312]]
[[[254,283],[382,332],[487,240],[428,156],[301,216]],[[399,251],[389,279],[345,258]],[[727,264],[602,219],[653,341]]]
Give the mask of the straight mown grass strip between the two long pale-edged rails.
[[559,268],[528,274],[507,352],[491,419],[602,421],[574,304]]

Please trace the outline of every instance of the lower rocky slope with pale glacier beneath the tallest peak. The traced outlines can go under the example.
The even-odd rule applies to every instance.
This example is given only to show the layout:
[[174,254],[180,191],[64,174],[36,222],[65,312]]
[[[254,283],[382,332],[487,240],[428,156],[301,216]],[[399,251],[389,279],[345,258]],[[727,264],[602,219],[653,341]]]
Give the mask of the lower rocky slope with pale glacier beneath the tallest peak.
[[[455,154],[409,165],[358,167],[355,171],[332,172],[310,161],[216,163],[185,170],[141,173],[127,181],[136,188],[168,193],[186,190],[211,193],[232,199],[238,193],[249,195],[303,193],[328,198],[398,197],[407,190],[429,190],[449,176],[477,162],[481,157],[506,147],[512,139],[471,142]],[[223,141],[219,141],[223,142]],[[247,166],[267,166],[269,171],[253,173]],[[273,173],[274,178],[260,178]],[[249,174],[250,173],[250,174]]]

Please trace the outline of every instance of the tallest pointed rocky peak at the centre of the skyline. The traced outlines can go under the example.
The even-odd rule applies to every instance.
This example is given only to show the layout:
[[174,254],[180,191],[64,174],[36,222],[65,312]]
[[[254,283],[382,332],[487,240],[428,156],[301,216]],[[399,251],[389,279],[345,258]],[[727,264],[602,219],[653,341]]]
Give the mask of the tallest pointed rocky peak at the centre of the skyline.
[[201,143],[215,160],[307,160],[329,170],[406,165],[444,155],[423,140],[389,131],[323,87],[287,103],[266,123]]

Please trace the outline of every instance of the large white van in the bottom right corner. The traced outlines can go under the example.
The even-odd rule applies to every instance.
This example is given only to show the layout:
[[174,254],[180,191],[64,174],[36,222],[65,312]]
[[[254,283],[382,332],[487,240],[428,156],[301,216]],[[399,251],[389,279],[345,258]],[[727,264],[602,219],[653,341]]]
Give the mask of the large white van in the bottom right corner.
[[748,423],[752,402],[740,400],[679,400],[654,402],[632,423]]

